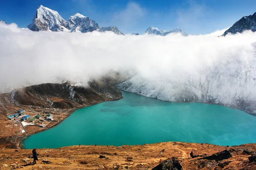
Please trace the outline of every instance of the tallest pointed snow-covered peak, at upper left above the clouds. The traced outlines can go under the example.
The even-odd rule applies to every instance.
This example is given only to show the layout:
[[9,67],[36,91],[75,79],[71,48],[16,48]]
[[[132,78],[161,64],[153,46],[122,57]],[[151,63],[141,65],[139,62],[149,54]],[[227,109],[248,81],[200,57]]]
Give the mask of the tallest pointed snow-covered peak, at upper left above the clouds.
[[57,11],[39,6],[31,24],[27,26],[32,31],[68,31],[65,21]]

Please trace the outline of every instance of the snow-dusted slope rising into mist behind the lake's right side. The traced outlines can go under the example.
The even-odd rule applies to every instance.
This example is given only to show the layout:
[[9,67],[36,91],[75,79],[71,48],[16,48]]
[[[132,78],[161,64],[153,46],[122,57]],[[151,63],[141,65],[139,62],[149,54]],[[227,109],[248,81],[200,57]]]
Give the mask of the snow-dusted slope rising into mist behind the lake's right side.
[[256,113],[256,43],[253,48],[250,57],[244,55],[243,48],[234,49],[237,56],[224,57],[195,72],[183,73],[186,68],[180,68],[178,72],[183,74],[136,75],[116,87],[169,102],[214,103]]

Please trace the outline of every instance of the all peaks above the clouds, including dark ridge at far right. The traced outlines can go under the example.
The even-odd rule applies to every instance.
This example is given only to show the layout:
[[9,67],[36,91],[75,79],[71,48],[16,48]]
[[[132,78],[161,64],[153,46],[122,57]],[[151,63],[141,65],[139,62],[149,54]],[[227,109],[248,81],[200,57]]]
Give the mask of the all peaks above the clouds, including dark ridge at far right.
[[[0,23],[6,23],[6,21],[1,20]],[[36,10],[36,14],[33,18],[31,24],[27,26],[32,31],[67,31],[67,32],[92,32],[92,31],[112,31],[118,35],[125,35],[115,26],[102,27],[100,28],[98,23],[95,20],[91,20],[89,17],[85,17],[82,14],[76,13],[75,15],[70,16],[69,20],[64,20],[57,11],[54,11],[50,8],[39,6]],[[234,23],[232,27],[227,29],[223,36],[228,33],[236,34],[241,33],[245,30],[256,31],[256,12],[253,15],[244,16],[239,21]],[[180,28],[175,28],[171,31],[161,30],[155,27],[148,27],[145,31],[145,34],[160,35],[166,36],[171,33],[180,33],[183,36],[188,34],[181,30]],[[140,35],[138,33],[133,33],[132,35]]]

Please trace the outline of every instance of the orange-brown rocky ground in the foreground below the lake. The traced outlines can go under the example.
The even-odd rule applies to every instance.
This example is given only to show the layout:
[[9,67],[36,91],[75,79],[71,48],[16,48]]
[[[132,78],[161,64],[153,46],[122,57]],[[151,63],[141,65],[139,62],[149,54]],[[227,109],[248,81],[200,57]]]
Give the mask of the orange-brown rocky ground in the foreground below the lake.
[[232,147],[182,142],[121,147],[81,145],[39,149],[39,161],[31,164],[32,150],[2,148],[0,169],[255,170],[255,151],[256,144]]

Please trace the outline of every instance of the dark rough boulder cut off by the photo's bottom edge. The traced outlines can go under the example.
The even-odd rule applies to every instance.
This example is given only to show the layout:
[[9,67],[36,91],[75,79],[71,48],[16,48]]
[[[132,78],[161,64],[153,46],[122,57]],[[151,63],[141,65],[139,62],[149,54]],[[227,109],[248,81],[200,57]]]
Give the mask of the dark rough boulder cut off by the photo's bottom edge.
[[154,167],[152,170],[183,170],[180,161],[176,157],[167,159]]

